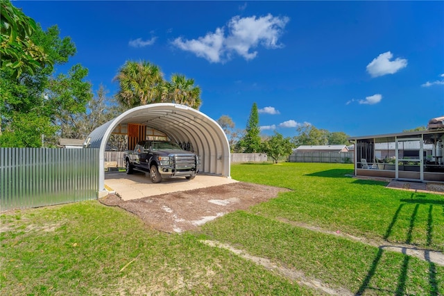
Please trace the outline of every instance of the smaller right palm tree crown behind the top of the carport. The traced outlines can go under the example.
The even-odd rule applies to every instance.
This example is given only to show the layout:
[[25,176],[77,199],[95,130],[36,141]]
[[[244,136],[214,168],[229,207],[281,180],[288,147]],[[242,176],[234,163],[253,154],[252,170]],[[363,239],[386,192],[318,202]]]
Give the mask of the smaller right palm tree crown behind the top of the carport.
[[[165,92],[167,93],[165,94]],[[173,74],[171,81],[165,82],[162,99],[195,109],[198,109],[202,104],[200,88],[194,85],[194,79],[187,79],[182,74]]]

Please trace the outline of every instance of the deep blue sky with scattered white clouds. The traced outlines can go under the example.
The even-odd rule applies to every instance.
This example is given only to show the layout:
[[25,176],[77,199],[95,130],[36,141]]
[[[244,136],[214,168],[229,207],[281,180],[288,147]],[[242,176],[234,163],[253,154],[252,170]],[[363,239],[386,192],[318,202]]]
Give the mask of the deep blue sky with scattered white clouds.
[[398,133],[444,115],[444,1],[14,1],[57,24],[94,90],[148,60],[202,90],[200,111],[262,132]]

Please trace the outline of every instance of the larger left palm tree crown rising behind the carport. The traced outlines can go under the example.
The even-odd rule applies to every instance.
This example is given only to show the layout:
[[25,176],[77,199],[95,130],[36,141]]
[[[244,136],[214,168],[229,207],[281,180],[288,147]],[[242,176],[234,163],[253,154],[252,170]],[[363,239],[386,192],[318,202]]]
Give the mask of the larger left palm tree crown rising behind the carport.
[[117,99],[128,108],[161,100],[160,85],[164,83],[164,79],[157,65],[128,60],[113,80],[119,81]]

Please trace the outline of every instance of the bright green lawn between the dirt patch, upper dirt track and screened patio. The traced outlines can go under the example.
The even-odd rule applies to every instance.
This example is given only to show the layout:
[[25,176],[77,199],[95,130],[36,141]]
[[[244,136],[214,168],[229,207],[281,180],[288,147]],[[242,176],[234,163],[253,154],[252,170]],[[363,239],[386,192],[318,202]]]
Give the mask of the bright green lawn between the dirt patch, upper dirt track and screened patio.
[[352,168],[324,163],[232,165],[232,178],[293,190],[255,206],[253,213],[444,251],[443,195],[350,178]]

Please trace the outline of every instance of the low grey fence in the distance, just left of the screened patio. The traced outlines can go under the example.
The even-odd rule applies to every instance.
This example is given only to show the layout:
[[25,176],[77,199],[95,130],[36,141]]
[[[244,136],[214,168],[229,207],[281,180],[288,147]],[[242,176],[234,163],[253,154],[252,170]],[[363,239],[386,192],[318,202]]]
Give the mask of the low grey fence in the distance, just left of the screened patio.
[[290,163],[352,163],[353,152],[298,152],[289,156]]

